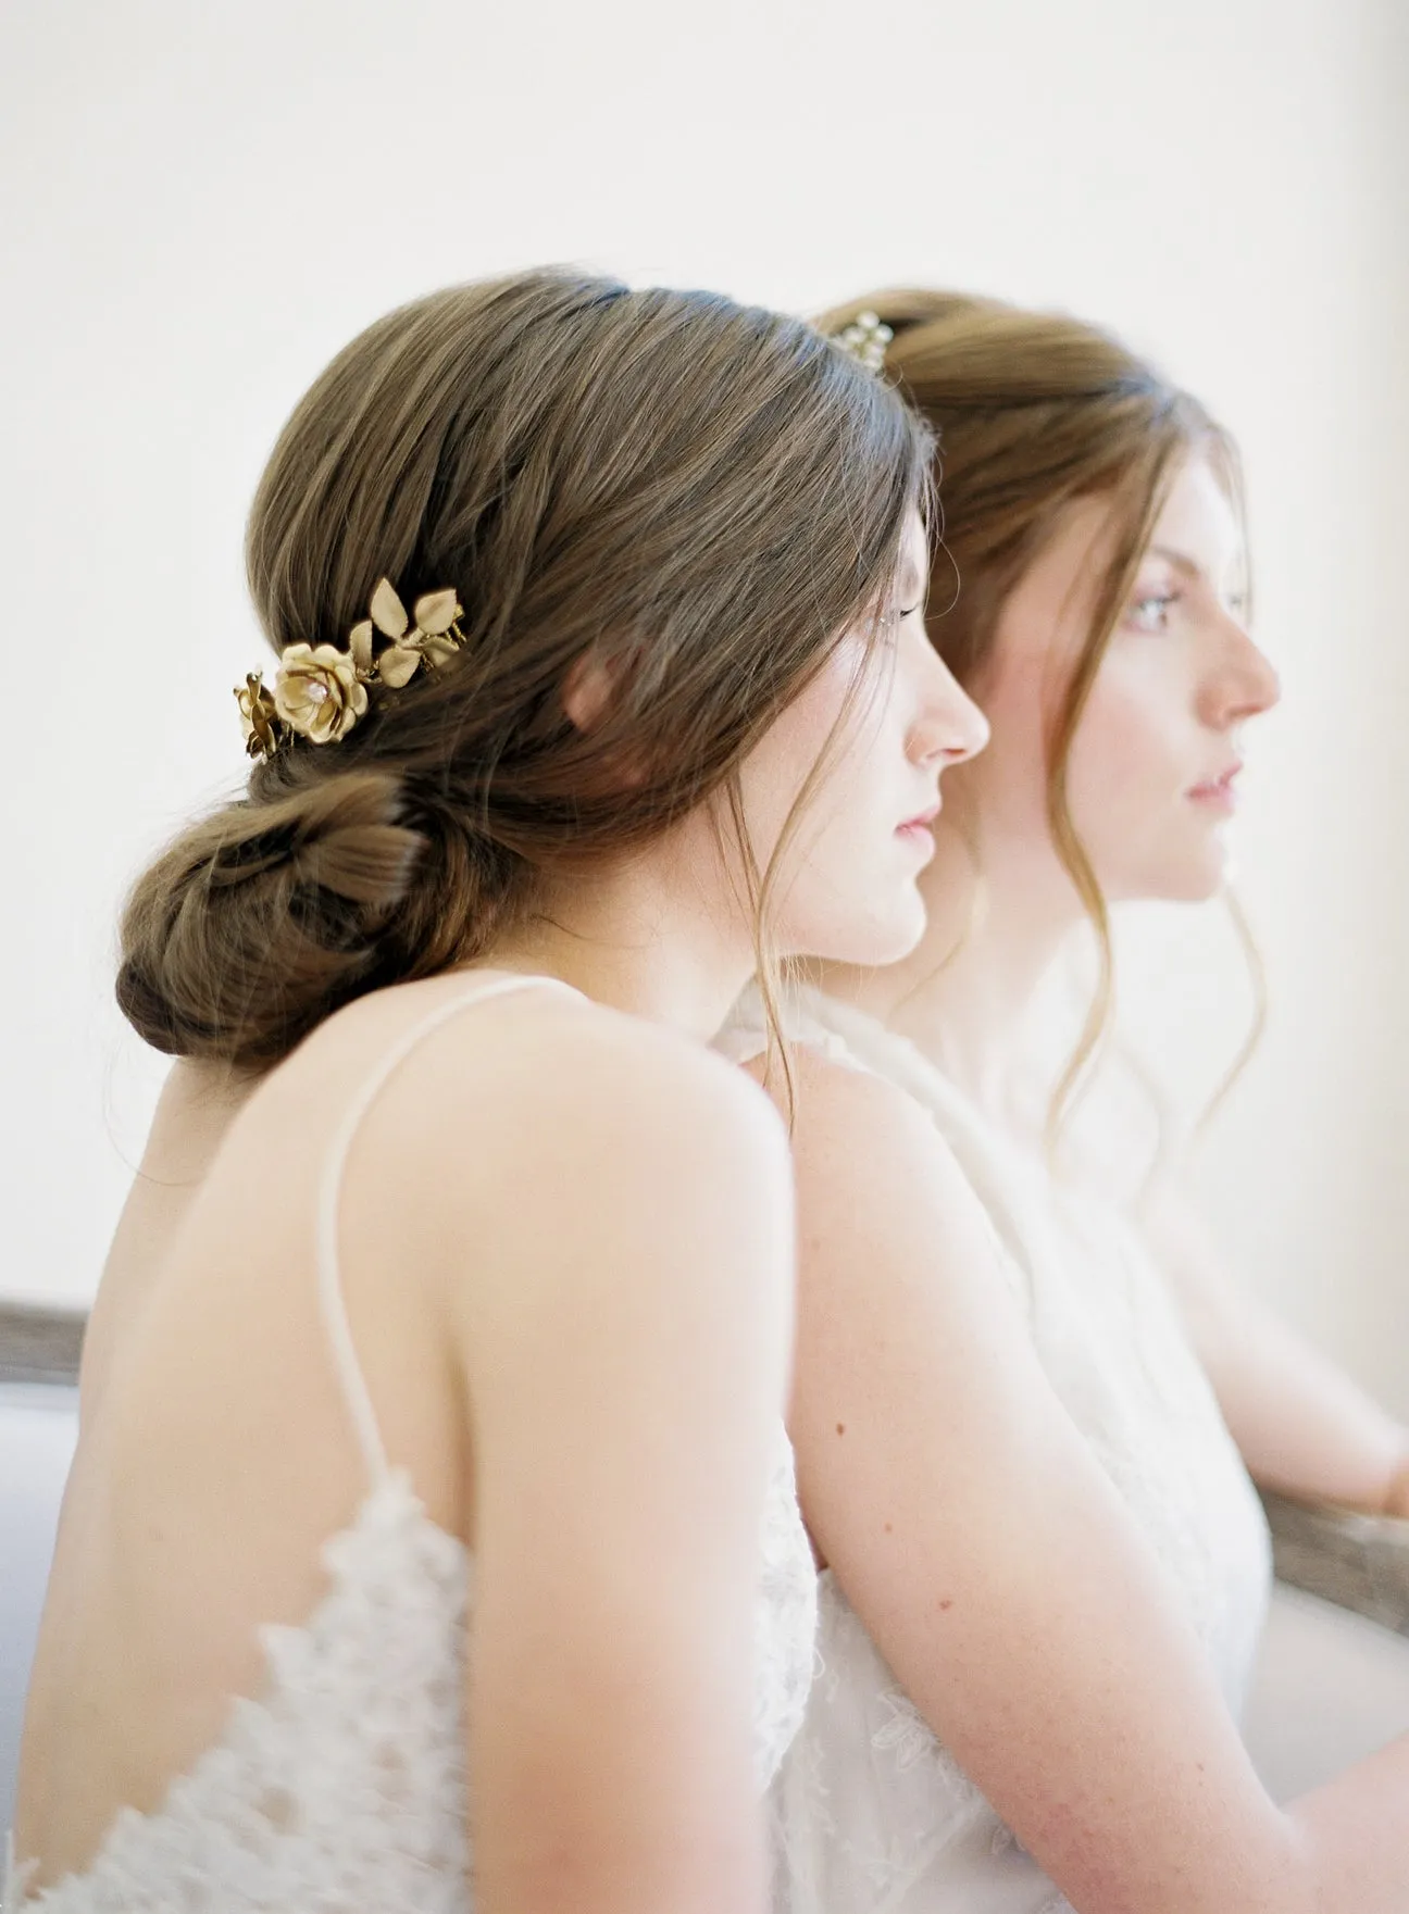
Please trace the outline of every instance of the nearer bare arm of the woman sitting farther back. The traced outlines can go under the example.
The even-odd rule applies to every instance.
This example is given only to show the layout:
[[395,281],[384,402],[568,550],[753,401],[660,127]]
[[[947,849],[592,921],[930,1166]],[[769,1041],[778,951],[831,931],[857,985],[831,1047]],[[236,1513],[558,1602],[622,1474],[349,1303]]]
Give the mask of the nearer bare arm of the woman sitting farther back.
[[1401,1914],[1409,1738],[1267,1797],[932,1124],[798,1079],[804,1506],[930,1726],[1082,1914]]

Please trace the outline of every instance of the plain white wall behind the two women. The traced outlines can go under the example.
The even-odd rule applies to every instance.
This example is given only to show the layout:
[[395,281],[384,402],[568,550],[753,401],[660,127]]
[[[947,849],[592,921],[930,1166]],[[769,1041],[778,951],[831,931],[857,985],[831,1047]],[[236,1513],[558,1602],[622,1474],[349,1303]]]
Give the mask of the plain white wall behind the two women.
[[[48,0],[0,21],[0,1288],[92,1292],[161,1066],[111,999],[144,854],[241,777],[262,456],[362,323],[582,260],[812,308],[934,281],[1152,350],[1241,436],[1285,672],[1246,779],[1267,1043],[1204,1181],[1409,1413],[1403,0]],[[1179,1087],[1241,1014],[1164,913]]]

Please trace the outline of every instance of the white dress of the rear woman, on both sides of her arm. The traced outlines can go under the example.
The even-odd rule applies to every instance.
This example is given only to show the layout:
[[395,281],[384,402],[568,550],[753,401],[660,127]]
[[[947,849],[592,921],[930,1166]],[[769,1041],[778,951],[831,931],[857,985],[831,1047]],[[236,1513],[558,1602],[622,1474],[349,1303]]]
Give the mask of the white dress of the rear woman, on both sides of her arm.
[[[804,991],[789,1035],[884,1076],[930,1114],[1005,1250],[1053,1388],[1164,1566],[1237,1713],[1262,1635],[1271,1556],[1262,1506],[1137,1233],[1061,1191],[911,1043]],[[722,1047],[762,1049],[745,1001]],[[787,1914],[1070,1914],[902,1694],[831,1571],[819,1675],[773,1790]]]

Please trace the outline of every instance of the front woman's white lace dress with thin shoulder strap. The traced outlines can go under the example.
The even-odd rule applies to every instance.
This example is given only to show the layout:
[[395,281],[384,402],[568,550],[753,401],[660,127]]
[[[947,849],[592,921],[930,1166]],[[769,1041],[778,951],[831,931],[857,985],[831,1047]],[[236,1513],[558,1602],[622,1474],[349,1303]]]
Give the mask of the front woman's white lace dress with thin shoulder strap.
[[[302,1627],[260,1633],[268,1673],[153,1814],[124,1809],[92,1866],[25,1897],[8,1860],[4,1910],[25,1914],[469,1914],[465,1646],[473,1564],[391,1468],[354,1353],[333,1219],[352,1133],[396,1064],[467,1003],[548,980],[490,980],[454,997],[383,1058],[324,1173],[324,1321],[369,1491],[324,1547],[327,1592]],[[557,986],[565,988],[565,986]],[[814,1669],[817,1592],[779,1422],[754,1635],[760,1793],[796,1732]]]

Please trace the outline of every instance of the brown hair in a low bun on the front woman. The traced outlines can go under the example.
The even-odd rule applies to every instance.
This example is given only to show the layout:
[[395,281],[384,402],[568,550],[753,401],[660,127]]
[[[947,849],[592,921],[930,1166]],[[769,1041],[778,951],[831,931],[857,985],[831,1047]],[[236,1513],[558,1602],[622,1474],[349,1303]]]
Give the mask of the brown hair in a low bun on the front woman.
[[[268,1066],[352,997],[484,953],[555,861],[733,794],[888,590],[930,454],[816,329],[710,293],[530,272],[368,327],[264,471],[255,607],[280,653],[341,647],[387,576],[408,605],[454,588],[467,643],[373,687],[341,743],[255,766],[138,880],[128,1020],[163,1051]],[[613,699],[576,729],[584,658]]]

